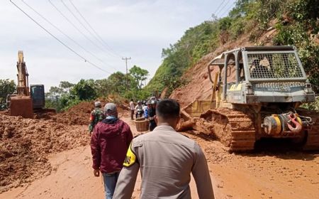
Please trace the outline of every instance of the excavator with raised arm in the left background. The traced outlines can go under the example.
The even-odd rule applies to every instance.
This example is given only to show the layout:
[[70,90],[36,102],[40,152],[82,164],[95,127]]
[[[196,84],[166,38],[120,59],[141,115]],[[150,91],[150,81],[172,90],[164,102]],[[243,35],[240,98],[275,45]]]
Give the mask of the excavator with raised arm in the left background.
[[45,88],[44,85],[30,85],[28,83],[28,70],[24,62],[23,51],[18,51],[18,85],[16,93],[8,95],[6,98],[7,107],[11,116],[21,116],[33,118],[34,111],[41,112],[45,107]]

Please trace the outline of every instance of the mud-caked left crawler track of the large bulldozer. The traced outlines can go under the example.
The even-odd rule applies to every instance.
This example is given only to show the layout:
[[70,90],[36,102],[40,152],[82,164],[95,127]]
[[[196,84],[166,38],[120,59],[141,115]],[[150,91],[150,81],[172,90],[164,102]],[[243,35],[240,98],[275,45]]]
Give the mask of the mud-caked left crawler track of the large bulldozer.
[[[254,149],[254,122],[248,114],[237,110],[221,108],[211,109],[201,114],[198,121],[208,126],[217,138],[229,147],[229,151],[251,151]],[[196,126],[198,126],[196,125]]]

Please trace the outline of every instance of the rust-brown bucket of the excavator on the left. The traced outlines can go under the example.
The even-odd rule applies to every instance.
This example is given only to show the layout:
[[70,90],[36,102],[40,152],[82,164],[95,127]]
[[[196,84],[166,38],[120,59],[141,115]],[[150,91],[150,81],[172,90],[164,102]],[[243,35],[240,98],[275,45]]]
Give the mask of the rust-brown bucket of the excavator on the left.
[[14,96],[10,100],[10,115],[33,118],[33,104],[30,96]]

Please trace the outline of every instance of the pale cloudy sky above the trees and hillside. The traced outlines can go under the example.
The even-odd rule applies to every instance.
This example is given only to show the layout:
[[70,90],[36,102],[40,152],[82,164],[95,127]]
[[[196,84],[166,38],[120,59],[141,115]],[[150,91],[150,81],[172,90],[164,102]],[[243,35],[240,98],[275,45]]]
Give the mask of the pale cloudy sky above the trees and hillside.
[[47,91],[60,81],[76,83],[81,79],[107,78],[116,71],[125,73],[125,57],[131,58],[128,70],[138,65],[150,72],[150,80],[162,63],[162,48],[176,43],[188,28],[211,20],[212,14],[218,18],[226,16],[235,3],[235,0],[11,1],[0,2],[0,79],[16,81],[18,50],[23,50],[30,84],[43,84]]

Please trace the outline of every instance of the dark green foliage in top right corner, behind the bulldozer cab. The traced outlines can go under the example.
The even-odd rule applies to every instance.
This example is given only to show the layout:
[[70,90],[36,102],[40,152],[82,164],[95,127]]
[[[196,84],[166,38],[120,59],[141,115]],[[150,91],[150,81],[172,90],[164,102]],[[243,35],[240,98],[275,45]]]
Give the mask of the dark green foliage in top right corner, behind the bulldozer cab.
[[[288,24],[277,23],[279,33],[274,38],[276,45],[295,45],[303,63],[303,68],[313,85],[319,85],[319,45],[312,37],[318,33],[319,1],[295,0],[287,4],[284,10],[289,18]],[[283,21],[284,18],[279,18]],[[305,31],[309,30],[309,31]]]

